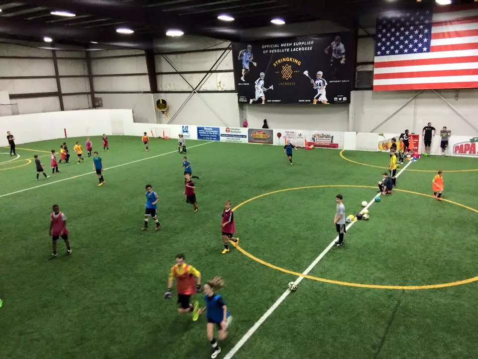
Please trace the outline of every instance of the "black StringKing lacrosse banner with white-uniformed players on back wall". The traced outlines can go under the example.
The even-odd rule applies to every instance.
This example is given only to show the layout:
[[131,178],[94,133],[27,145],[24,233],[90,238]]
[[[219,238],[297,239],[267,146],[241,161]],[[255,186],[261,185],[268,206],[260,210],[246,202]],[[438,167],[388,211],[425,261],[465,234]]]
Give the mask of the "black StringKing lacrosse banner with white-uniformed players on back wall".
[[233,43],[239,103],[350,103],[352,34]]

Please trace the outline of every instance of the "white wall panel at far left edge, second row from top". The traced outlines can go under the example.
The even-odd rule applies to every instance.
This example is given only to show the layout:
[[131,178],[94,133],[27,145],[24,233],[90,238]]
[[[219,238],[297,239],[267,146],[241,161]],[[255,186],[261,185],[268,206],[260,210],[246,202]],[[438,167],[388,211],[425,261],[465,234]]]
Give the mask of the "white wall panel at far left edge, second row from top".
[[51,59],[0,59],[0,77],[55,76]]

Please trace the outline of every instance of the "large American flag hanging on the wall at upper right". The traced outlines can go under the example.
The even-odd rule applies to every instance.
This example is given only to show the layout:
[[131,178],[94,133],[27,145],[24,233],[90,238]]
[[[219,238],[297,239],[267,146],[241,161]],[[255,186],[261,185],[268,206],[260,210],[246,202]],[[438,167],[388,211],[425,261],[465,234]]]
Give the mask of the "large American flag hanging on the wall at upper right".
[[373,90],[478,88],[478,6],[377,19]]

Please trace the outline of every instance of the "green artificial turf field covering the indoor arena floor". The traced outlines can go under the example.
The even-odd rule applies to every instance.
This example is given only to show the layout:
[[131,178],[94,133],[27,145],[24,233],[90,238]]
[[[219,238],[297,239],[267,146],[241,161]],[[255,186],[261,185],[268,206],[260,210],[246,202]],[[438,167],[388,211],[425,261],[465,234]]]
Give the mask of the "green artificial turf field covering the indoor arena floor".
[[[360,202],[376,194],[384,171],[378,167],[388,163],[382,153],[343,153],[377,166],[371,167],[346,161],[339,151],[314,149],[294,152],[290,166],[276,146],[188,141],[187,156],[200,177],[199,212],[193,213],[184,201],[175,140],[151,140],[144,152],[139,137],[112,136],[110,152],[100,151],[107,169],[103,187],[89,159],[60,165],[59,174],[36,181],[26,159],[46,155],[41,160],[48,173],[47,152],[59,151],[63,141],[18,145],[20,158],[11,162],[0,154],[1,359],[209,358],[205,318],[192,322],[176,312],[175,296],[163,299],[179,252],[202,272],[203,282],[216,275],[226,281],[222,294],[234,317],[218,357],[226,358],[297,276],[238,249],[221,255],[224,201],[238,205],[279,189],[318,186],[269,194],[235,212],[242,251],[301,273],[337,235],[335,195],[344,195],[347,214],[357,213]],[[67,139],[73,161],[75,141],[85,139]],[[92,142],[95,150],[101,139]],[[478,276],[478,171],[447,172],[476,169],[478,161],[470,158],[412,163],[397,179],[396,189],[405,191],[373,203],[370,220],[350,228],[345,246],[325,254],[309,273],[314,279],[304,279],[234,358],[477,358],[476,282],[421,290],[367,287]],[[438,170],[445,171],[441,202],[430,196]],[[139,230],[146,183],[160,198],[158,232]],[[65,256],[59,241],[60,255],[49,261],[54,203],[68,217],[73,253]]]

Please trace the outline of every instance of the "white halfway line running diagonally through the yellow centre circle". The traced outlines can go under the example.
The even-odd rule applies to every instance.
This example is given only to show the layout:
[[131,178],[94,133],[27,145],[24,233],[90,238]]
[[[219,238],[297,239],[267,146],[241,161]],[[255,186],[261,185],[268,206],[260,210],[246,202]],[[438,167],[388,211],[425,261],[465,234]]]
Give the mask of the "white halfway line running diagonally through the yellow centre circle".
[[[408,166],[410,166],[410,164],[412,163],[412,161],[409,161],[405,167],[403,167],[400,172],[395,176],[395,177],[398,177],[402,174],[403,170],[405,170]],[[376,196],[380,196],[380,194],[376,194],[373,196],[373,198],[368,202],[368,204],[362,209],[368,209],[368,207],[370,207],[374,202],[375,202],[375,197]],[[347,227],[346,227],[346,230],[348,231],[350,227],[352,227],[354,225],[355,222],[352,222],[350,223]],[[305,271],[302,272],[303,275],[307,275],[309,274],[309,272],[317,265],[317,263],[320,262],[320,260],[322,258],[324,258],[324,256],[327,254],[327,252],[329,252],[332,247],[335,245],[335,242],[339,239],[339,236],[337,235],[337,237],[334,238],[334,240],[332,242],[330,242],[330,244],[327,246],[327,248],[325,248],[322,253],[319,254],[319,256],[310,264],[310,266],[307,267],[307,269]],[[304,277],[298,277],[296,280],[295,280],[295,284],[299,284],[302,279],[304,279]],[[259,329],[259,327],[262,325],[262,323],[264,323],[267,318],[269,318],[269,316],[279,307],[279,305],[281,305],[281,303],[287,298],[287,296],[291,293],[290,290],[286,290],[284,293],[282,293],[282,295],[279,297],[279,299],[277,299],[275,301],[274,304],[272,304],[272,306],[262,315],[262,317],[259,318],[259,320],[257,322],[254,323],[254,325],[252,327],[250,327],[250,329],[247,331],[247,333],[244,334],[244,336],[239,340],[239,342],[233,347],[233,349],[231,349],[229,351],[228,354],[226,354],[226,356],[224,357],[224,359],[231,359],[234,357],[234,355],[239,351],[240,348],[242,348],[242,346],[249,340],[249,338],[255,333],[255,331],[257,329]]]

